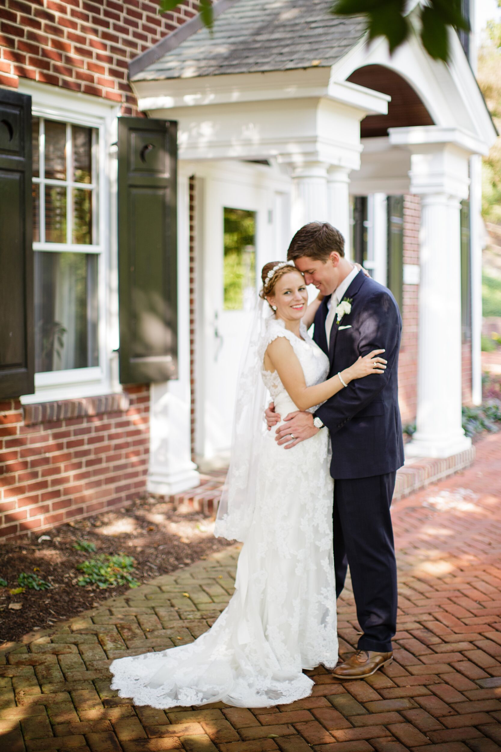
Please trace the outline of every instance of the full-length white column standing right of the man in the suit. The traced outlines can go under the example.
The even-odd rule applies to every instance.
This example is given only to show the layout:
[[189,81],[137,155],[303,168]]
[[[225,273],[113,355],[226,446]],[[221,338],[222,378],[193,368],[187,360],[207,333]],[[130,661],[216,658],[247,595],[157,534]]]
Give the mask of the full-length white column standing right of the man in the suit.
[[406,454],[447,457],[471,446],[461,427],[458,196],[421,193],[420,265],[418,411]]

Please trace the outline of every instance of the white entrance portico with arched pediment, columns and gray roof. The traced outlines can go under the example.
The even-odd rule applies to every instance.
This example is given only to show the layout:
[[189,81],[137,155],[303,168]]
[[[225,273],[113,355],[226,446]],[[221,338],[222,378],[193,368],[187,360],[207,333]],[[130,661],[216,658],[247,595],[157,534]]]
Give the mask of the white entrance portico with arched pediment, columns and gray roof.
[[[273,12],[264,0],[227,5],[212,36],[196,28],[189,35],[185,29],[170,46],[160,43],[146,67],[138,59],[131,70],[140,109],[179,123],[180,189],[186,192],[189,176],[198,185],[197,238],[204,259],[197,280],[198,456],[222,455],[229,448],[224,421],[219,436],[210,435],[224,408],[214,397],[217,389],[205,384],[210,364],[223,380],[223,399],[226,395],[231,402],[234,368],[217,370],[225,356],[220,341],[225,313],[220,293],[213,295],[218,283],[210,270],[219,264],[221,250],[213,238],[222,223],[211,223],[211,215],[228,205],[238,208],[240,197],[242,209],[257,213],[259,269],[282,258],[294,232],[311,220],[337,226],[350,254],[350,196],[370,196],[372,250],[366,265],[383,284],[386,196],[421,197],[417,429],[407,450],[409,456],[445,457],[466,449],[459,211],[460,201],[469,197],[473,267],[480,248],[477,155],[487,153],[496,132],[459,39],[451,35],[451,62],[444,65],[433,62],[415,36],[393,57],[383,41],[367,47],[360,21],[334,19],[329,0],[314,8],[303,0],[282,0],[273,4]],[[321,26],[315,27],[317,20]],[[311,26],[317,32],[308,35]],[[260,35],[263,43],[266,35],[274,41],[268,47],[257,44]],[[186,226],[186,201],[183,206],[179,220]],[[180,254],[187,250],[185,238]],[[478,273],[472,280],[478,401]],[[225,320],[228,332],[234,325],[241,331],[245,315]],[[225,337],[230,341],[229,333]],[[233,341],[228,364],[237,362],[238,338]],[[176,384],[166,390],[180,393]],[[174,472],[180,451],[188,462],[189,424],[177,432],[171,469],[169,452],[163,454],[165,478]]]

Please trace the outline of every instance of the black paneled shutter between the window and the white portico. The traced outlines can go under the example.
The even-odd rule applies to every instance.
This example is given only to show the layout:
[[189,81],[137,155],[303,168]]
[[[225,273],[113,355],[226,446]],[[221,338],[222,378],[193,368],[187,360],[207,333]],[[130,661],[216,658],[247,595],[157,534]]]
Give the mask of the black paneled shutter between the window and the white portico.
[[177,378],[177,123],[119,117],[122,384]]

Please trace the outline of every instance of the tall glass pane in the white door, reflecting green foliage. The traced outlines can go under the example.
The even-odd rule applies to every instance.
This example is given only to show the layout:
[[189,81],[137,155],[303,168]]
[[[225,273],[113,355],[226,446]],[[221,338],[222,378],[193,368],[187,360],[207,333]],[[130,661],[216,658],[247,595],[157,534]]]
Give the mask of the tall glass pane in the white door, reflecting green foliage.
[[255,211],[224,209],[225,311],[249,311],[255,302]]

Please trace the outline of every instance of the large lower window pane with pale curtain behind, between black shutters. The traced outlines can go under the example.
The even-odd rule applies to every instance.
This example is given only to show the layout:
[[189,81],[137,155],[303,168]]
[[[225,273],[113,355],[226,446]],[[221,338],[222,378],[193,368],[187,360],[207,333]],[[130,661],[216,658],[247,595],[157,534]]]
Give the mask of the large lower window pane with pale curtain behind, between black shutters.
[[35,253],[35,371],[98,365],[98,257]]

